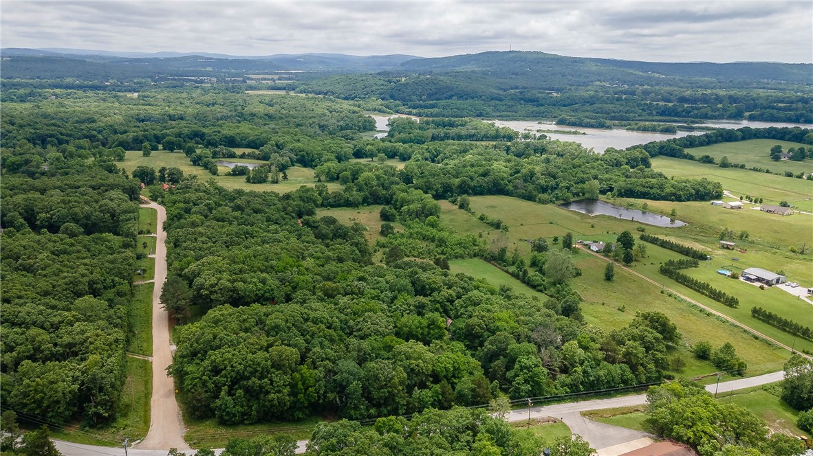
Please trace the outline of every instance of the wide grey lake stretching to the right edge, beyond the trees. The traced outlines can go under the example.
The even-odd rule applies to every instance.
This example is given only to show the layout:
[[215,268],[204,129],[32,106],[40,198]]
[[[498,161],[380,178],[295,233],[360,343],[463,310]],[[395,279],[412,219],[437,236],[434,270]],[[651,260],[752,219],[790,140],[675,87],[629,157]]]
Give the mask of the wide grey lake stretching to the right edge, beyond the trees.
[[[655,131],[628,131],[623,128],[587,128],[587,127],[567,127],[566,125],[556,125],[552,122],[538,123],[533,120],[489,120],[498,127],[509,127],[512,130],[524,131],[537,130],[567,130],[584,131],[586,135],[568,135],[567,133],[545,133],[551,140],[574,141],[586,148],[593,148],[598,153],[603,153],[606,148],[628,148],[636,144],[646,144],[651,141],[668,140],[670,138],[680,138],[689,135],[702,135],[708,131],[677,131],[677,133],[658,133]],[[701,124],[703,127],[720,128],[767,128],[767,127],[802,127],[813,128],[811,124],[804,123],[781,123],[781,122],[754,122],[748,120],[715,120]]]

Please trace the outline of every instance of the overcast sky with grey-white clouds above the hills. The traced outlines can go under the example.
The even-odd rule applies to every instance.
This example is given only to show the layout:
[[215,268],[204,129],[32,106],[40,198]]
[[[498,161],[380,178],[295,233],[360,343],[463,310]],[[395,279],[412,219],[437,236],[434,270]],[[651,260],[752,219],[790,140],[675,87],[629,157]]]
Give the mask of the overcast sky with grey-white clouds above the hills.
[[2,2],[2,47],[813,62],[813,2]]

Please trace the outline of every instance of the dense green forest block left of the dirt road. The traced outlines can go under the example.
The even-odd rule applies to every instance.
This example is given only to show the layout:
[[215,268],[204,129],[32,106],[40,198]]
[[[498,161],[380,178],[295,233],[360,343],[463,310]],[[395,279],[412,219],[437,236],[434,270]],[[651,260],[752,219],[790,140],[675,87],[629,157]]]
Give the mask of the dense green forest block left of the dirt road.
[[2,408],[115,419],[138,182],[68,148],[2,150]]

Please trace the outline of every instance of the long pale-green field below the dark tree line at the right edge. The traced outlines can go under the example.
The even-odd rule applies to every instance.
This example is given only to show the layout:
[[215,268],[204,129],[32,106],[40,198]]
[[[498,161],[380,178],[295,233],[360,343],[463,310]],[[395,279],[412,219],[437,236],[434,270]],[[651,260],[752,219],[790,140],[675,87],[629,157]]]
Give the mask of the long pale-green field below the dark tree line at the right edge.
[[737,196],[756,196],[763,198],[767,204],[779,204],[785,200],[796,209],[813,212],[813,181],[750,170],[720,168],[716,165],[703,165],[697,161],[672,157],[653,158],[652,168],[667,176],[707,178],[722,183],[724,189]]

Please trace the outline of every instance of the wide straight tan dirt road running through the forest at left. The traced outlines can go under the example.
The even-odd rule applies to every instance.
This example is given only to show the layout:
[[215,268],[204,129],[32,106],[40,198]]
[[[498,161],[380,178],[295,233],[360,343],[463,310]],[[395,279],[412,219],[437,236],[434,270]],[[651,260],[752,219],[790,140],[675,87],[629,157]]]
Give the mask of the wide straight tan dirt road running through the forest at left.
[[175,399],[175,383],[167,376],[167,367],[172,364],[169,351],[171,342],[169,333],[169,315],[161,308],[161,290],[167,279],[167,233],[163,222],[167,220],[167,211],[163,206],[150,201],[141,207],[152,208],[158,212],[155,239],[155,286],[153,288],[153,394],[150,400],[150,432],[135,448],[144,450],[164,450],[177,448],[189,449],[186,445],[180,425],[180,411]]

